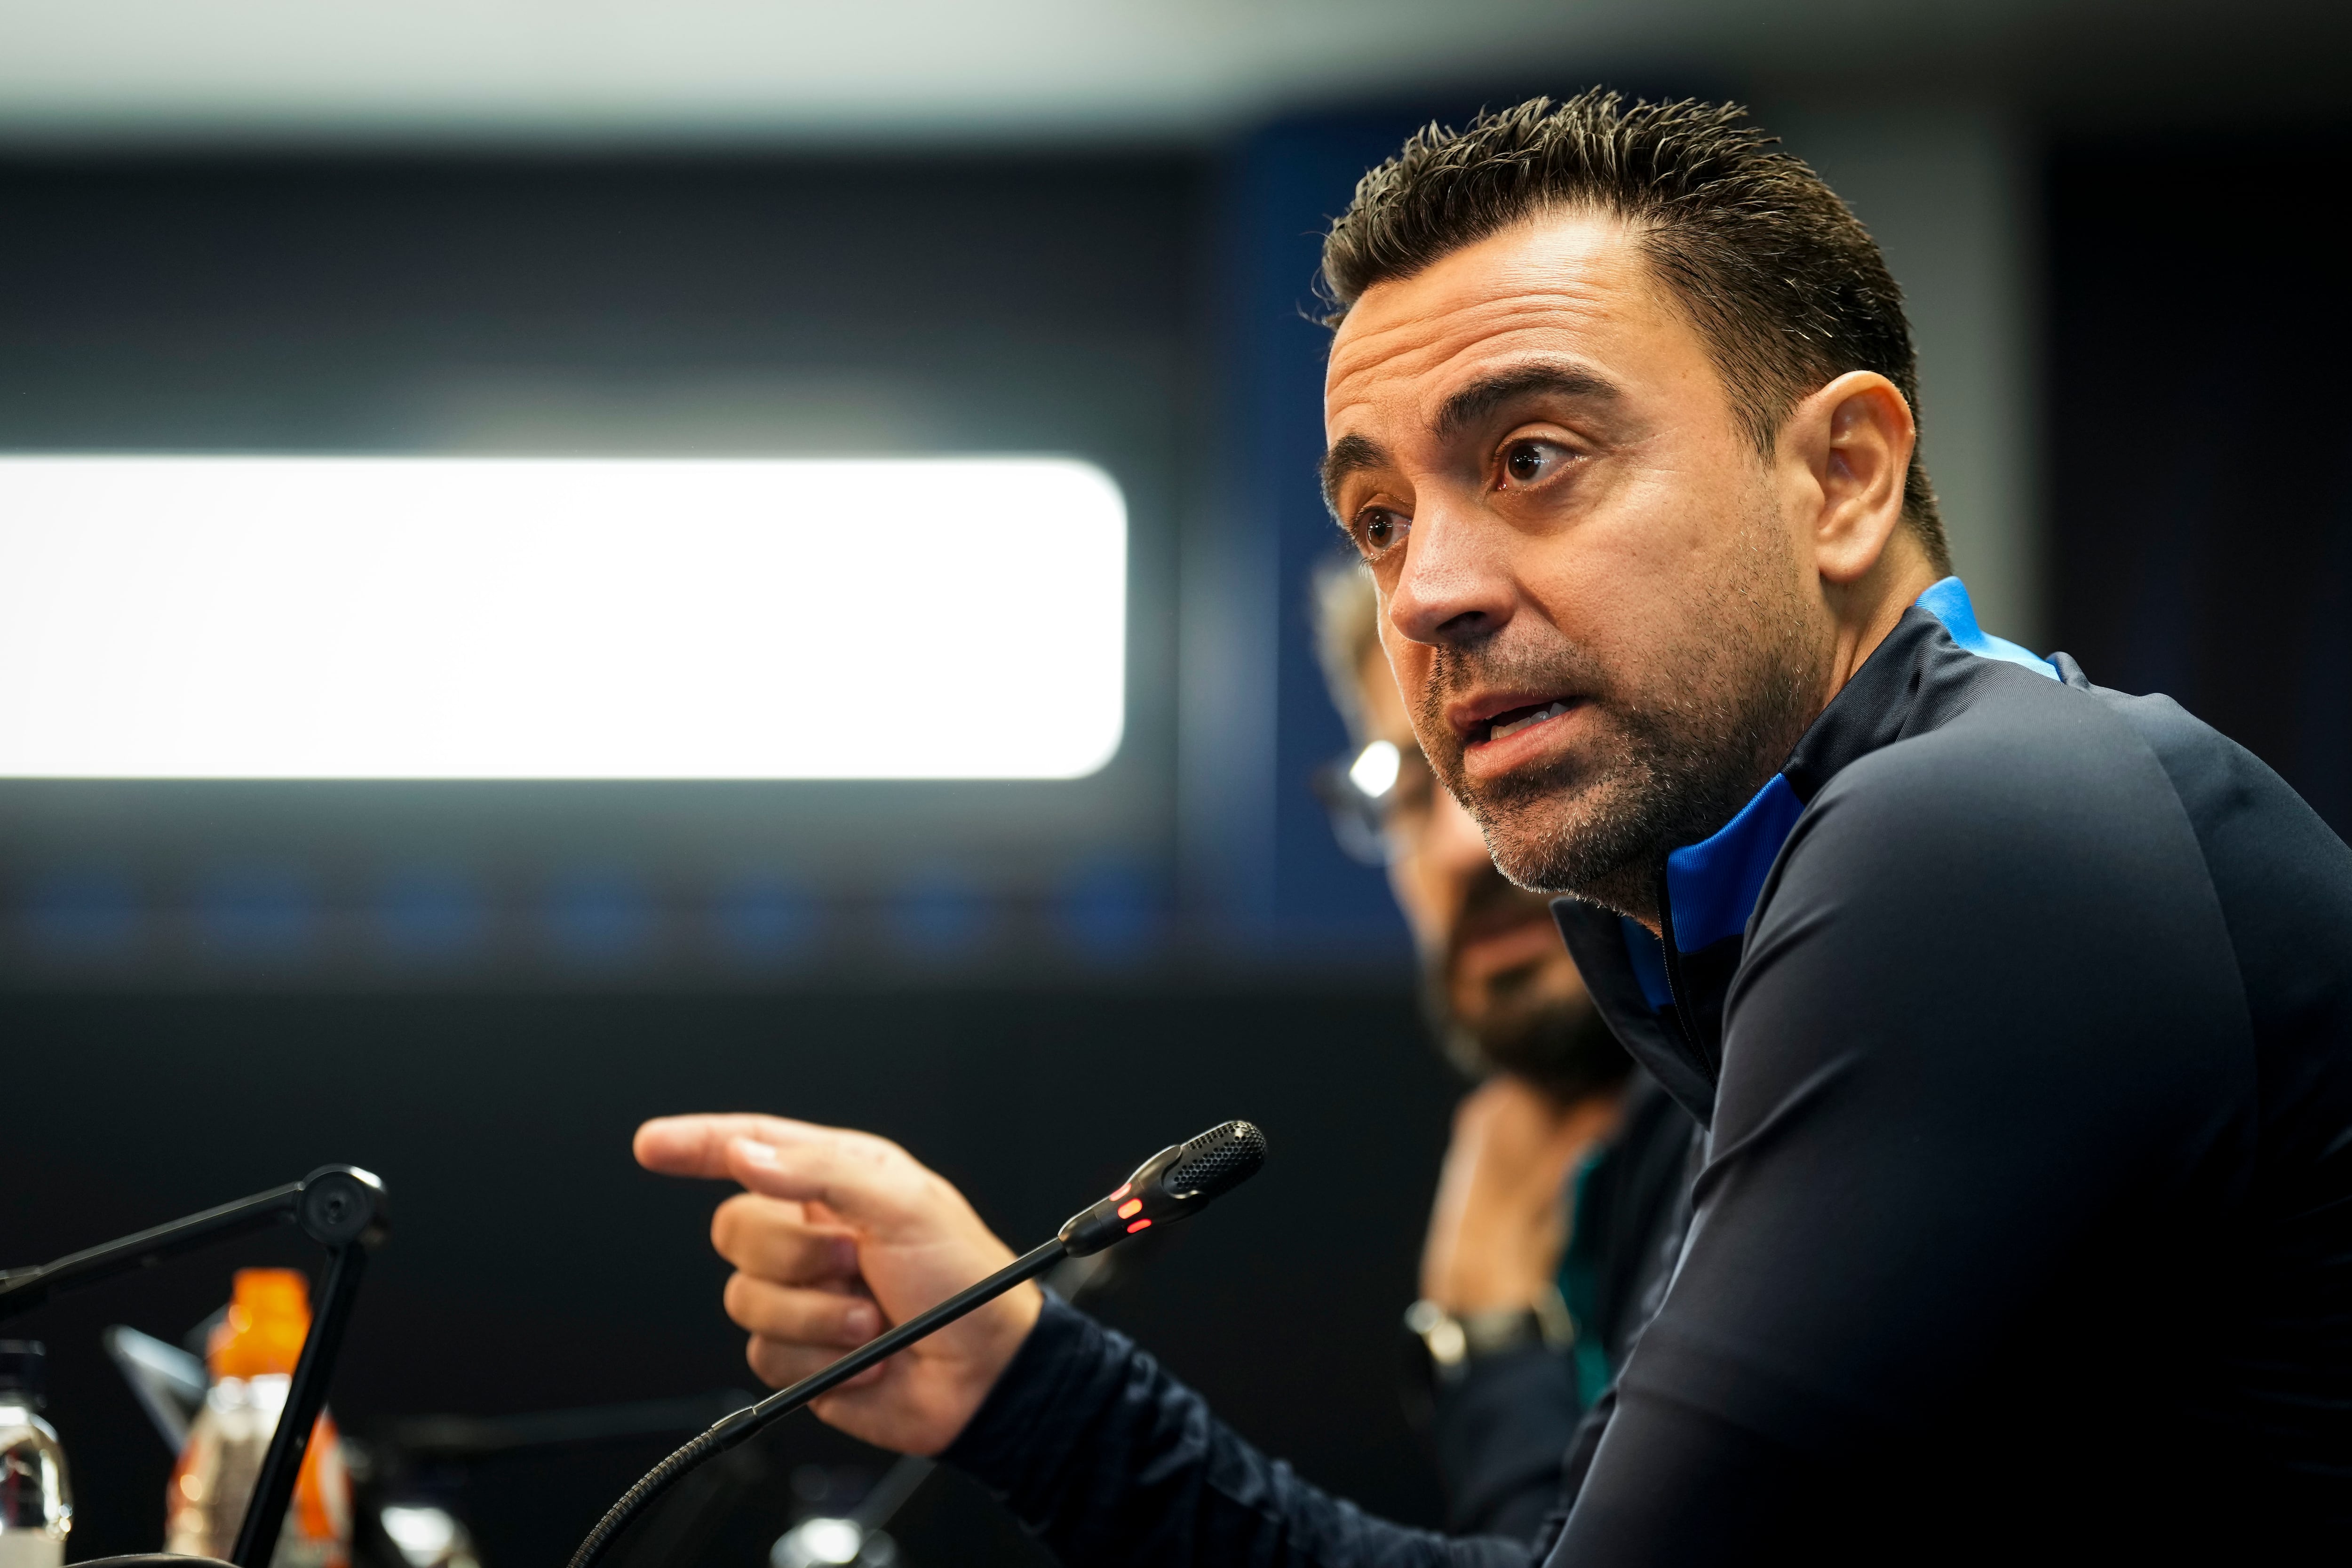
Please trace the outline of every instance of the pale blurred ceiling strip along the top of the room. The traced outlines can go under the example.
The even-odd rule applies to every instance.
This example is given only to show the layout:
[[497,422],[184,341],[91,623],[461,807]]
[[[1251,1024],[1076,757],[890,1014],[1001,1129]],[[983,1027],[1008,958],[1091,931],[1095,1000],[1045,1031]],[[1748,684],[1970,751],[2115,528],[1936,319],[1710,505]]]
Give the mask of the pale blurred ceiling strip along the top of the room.
[[[2279,49],[2312,0],[80,0],[14,5],[16,136],[891,141],[1209,136],[1336,94],[1557,61],[1783,78],[2004,75],[2122,96],[2150,66]],[[2107,71],[2082,73],[2098,56]],[[2140,71],[2117,71],[2119,61]],[[2274,92],[2321,61],[2274,61]]]

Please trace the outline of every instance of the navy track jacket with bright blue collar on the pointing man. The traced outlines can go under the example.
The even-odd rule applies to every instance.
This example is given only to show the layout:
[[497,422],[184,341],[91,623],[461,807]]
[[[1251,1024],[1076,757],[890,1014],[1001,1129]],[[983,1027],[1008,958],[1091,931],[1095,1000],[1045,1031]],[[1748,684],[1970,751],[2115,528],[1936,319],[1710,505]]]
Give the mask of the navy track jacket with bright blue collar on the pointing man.
[[2270,769],[1947,578],[1661,889],[1559,917],[1705,1161],[1534,1542],[1061,1302],[948,1458],[1075,1568],[2352,1556],[2352,851]]

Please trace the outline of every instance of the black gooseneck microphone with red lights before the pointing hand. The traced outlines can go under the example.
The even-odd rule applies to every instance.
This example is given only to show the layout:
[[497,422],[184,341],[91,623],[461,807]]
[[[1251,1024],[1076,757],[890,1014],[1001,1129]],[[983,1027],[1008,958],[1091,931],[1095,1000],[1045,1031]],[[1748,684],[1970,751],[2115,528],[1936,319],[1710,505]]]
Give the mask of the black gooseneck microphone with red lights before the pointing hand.
[[1160,1150],[1136,1166],[1134,1175],[1129,1175],[1117,1192],[1070,1215],[1061,1232],[1044,1246],[1014,1258],[988,1279],[957,1291],[929,1312],[917,1312],[889,1333],[866,1340],[866,1345],[858,1345],[823,1371],[809,1373],[793,1387],[776,1389],[755,1406],[743,1406],[731,1415],[722,1415],[708,1432],[689,1439],[677,1453],[666,1458],[661,1465],[654,1465],[654,1469],[644,1472],[635,1486],[621,1493],[621,1500],[614,1502],[595,1528],[588,1530],[586,1540],[581,1540],[579,1552],[572,1554],[569,1568],[590,1568],[600,1556],[604,1556],[621,1530],[626,1530],[628,1523],[654,1502],[654,1497],[670,1490],[694,1467],[727,1453],[811,1399],[849,1382],[875,1361],[898,1354],[915,1340],[946,1328],[974,1307],[993,1302],[1021,1281],[1044,1274],[1063,1258],[1087,1258],[1089,1253],[1117,1246],[1152,1225],[1171,1225],[1200,1213],[1256,1175],[1263,1164],[1265,1133],[1249,1121],[1223,1121],[1211,1126],[1200,1138]]

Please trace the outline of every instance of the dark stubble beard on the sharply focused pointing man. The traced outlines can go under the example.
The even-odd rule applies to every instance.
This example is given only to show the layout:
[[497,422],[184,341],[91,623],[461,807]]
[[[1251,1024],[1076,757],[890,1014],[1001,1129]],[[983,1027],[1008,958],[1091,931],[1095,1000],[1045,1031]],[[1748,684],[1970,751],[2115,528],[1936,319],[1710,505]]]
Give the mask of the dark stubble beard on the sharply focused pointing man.
[[[1785,534],[1757,520],[1733,581],[1691,607],[1686,635],[1646,661],[1642,691],[1569,644],[1437,649],[1421,733],[1437,738],[1430,764],[1505,877],[1656,922],[1668,851],[1729,823],[1825,703],[1828,651],[1788,550]],[[1548,766],[1470,783],[1444,703],[1475,686],[1583,693],[1599,733]]]

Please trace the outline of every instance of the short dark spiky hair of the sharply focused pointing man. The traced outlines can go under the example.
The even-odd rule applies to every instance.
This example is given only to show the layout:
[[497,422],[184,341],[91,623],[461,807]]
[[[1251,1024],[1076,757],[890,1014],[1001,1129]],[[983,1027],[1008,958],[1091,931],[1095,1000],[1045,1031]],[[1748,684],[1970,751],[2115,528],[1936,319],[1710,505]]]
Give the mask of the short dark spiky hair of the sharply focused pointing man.
[[[1364,289],[1548,209],[1595,209],[1639,233],[1689,308],[1762,451],[1788,411],[1851,369],[1903,390],[1919,418],[1919,355],[1903,292],[1870,230],[1804,160],[1736,103],[1628,103],[1583,92],[1428,125],[1367,174],[1324,237],[1322,284],[1338,324]],[[1912,449],[1903,517],[1950,571],[1926,463]]]

